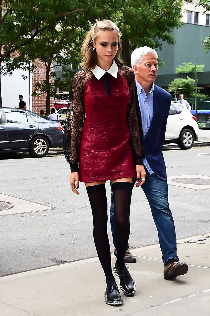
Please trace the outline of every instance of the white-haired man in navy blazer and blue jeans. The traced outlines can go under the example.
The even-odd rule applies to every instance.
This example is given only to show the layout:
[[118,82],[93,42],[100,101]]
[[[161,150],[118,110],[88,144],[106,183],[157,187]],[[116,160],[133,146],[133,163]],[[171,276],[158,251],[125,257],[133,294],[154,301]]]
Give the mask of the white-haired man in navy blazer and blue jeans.
[[[158,70],[157,59],[156,51],[147,46],[137,48],[131,54],[131,65],[136,77],[136,112],[140,130],[141,152],[146,170],[146,181],[141,187],[148,199],[158,231],[164,263],[164,279],[173,279],[185,274],[188,271],[188,265],[178,261],[174,221],[168,203],[166,166],[162,147],[171,94],[154,85]],[[114,238],[113,214],[112,199],[110,222]],[[116,255],[116,249],[114,254]]]

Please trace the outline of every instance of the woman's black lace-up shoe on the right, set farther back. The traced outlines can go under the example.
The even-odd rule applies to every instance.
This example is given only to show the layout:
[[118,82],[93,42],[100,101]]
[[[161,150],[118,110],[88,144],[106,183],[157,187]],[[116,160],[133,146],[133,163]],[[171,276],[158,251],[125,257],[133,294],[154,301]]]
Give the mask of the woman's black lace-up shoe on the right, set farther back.
[[128,272],[128,268],[118,269],[117,262],[114,265],[114,273],[120,279],[120,289],[127,296],[133,296],[136,292],[136,283],[132,279],[130,273]]

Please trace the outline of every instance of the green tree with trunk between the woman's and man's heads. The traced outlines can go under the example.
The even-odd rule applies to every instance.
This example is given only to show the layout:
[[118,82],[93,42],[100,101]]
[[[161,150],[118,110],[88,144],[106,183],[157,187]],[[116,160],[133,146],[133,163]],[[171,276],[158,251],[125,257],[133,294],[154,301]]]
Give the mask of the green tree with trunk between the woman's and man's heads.
[[137,47],[161,49],[162,41],[176,43],[171,31],[182,24],[182,5],[182,0],[99,0],[91,10],[91,18],[108,18],[117,23],[122,31],[122,57],[131,67],[131,52]]

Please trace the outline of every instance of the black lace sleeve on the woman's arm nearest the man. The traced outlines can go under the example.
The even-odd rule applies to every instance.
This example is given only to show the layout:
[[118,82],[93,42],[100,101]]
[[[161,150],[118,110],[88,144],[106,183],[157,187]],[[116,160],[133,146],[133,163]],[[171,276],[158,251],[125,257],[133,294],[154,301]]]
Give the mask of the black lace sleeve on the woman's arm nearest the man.
[[119,73],[125,77],[129,84],[130,100],[128,102],[127,108],[127,119],[131,134],[131,145],[133,150],[134,163],[135,165],[143,165],[140,149],[139,125],[135,108],[135,75],[133,70],[126,66],[119,68]]

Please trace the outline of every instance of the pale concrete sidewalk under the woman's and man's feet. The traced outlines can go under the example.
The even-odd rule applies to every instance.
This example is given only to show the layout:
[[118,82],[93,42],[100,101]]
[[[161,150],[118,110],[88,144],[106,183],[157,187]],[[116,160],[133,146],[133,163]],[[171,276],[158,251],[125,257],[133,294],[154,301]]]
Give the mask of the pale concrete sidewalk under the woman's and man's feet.
[[210,315],[210,234],[178,240],[178,255],[189,270],[172,281],[163,279],[159,245],[132,253],[137,291],[129,298],[120,290],[120,307],[105,304],[102,268],[98,258],[90,258],[1,277],[0,315]]

